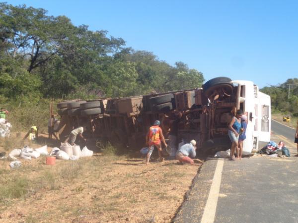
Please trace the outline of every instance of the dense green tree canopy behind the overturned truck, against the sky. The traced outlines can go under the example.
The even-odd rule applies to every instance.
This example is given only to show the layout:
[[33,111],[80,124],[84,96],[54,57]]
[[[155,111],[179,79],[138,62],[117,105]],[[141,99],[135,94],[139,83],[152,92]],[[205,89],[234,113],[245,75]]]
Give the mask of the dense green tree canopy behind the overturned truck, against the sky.
[[201,87],[203,74],[42,8],[0,3],[2,98],[126,97]]

